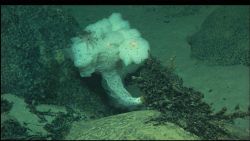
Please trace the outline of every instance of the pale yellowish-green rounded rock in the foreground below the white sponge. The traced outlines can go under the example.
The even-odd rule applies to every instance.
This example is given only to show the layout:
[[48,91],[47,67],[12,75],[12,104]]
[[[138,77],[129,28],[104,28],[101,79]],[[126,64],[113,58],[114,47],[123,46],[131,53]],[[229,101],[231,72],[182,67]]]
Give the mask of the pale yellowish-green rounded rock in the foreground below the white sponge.
[[199,139],[182,128],[167,123],[166,125],[154,126],[145,123],[152,117],[159,116],[155,110],[133,111],[119,115],[104,117],[92,121],[75,122],[68,140],[163,140],[163,139]]

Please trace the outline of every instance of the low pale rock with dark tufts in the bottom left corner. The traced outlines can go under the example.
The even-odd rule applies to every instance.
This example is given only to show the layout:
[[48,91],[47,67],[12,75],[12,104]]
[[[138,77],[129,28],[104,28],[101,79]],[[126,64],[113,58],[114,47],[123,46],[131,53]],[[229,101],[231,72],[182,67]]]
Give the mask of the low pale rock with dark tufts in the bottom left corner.
[[9,111],[1,113],[1,139],[4,140],[62,139],[71,122],[79,118],[79,113],[63,106],[31,107],[22,97],[13,94],[2,94],[1,100],[12,104]]

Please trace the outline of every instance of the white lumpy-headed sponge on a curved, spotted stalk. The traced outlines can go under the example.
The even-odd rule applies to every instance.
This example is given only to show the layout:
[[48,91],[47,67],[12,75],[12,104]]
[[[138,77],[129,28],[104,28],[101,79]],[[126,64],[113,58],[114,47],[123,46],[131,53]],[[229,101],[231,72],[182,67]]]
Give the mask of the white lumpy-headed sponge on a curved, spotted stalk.
[[141,98],[134,98],[124,88],[117,73],[118,61],[125,66],[139,64],[148,57],[149,43],[136,29],[131,29],[129,22],[121,14],[113,13],[85,28],[90,35],[72,39],[72,54],[81,77],[92,73],[102,74],[109,95],[123,106],[142,104]]

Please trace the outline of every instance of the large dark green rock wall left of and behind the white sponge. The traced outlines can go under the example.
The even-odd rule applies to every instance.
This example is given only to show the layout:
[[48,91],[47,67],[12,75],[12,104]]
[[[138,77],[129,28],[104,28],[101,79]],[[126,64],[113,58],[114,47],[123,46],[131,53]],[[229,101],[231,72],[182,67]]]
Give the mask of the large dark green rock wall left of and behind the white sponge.
[[88,110],[99,117],[99,111],[110,113],[102,91],[90,90],[63,54],[81,31],[72,16],[52,6],[1,6],[1,27],[1,94],[23,96],[32,105]]

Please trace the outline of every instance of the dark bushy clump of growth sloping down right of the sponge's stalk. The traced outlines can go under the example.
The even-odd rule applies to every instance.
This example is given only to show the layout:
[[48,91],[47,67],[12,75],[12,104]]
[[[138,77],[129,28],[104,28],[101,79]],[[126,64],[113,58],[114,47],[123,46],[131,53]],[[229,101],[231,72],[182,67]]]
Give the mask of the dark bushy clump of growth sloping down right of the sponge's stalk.
[[152,119],[156,125],[173,122],[203,139],[232,137],[223,125],[235,118],[250,116],[250,112],[225,114],[226,108],[214,113],[204,102],[203,94],[183,86],[172,69],[162,67],[154,58],[148,59],[135,73],[129,74],[127,84],[136,84],[144,93],[145,105],[162,115]]

